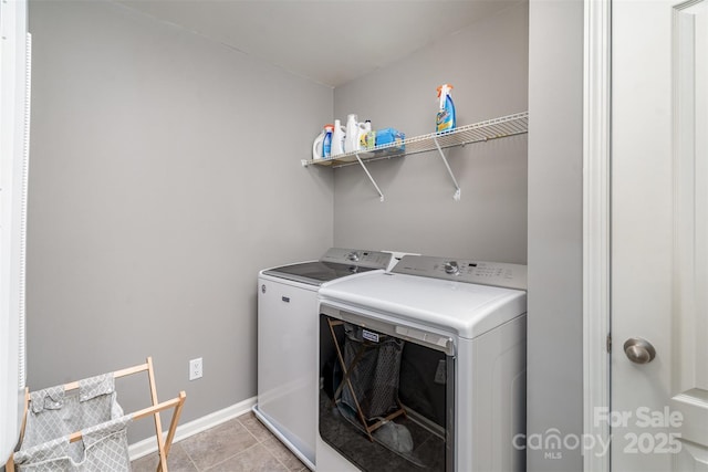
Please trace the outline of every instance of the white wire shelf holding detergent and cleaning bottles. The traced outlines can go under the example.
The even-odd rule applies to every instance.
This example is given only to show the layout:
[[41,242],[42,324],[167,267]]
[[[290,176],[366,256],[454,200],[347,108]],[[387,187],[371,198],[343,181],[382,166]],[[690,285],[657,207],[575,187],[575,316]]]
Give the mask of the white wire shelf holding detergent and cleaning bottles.
[[431,133],[429,135],[406,138],[403,144],[387,144],[376,146],[371,150],[360,150],[341,154],[329,159],[303,160],[304,166],[330,166],[332,168],[352,166],[363,161],[388,159],[392,157],[409,156],[428,153],[491,139],[522,135],[529,132],[529,112],[517,113],[471,125],[459,126],[451,132]]

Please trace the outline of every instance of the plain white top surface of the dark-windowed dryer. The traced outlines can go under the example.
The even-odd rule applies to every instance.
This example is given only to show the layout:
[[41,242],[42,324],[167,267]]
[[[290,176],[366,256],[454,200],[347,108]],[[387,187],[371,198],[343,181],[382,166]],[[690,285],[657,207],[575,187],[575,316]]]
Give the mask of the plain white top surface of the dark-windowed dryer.
[[412,321],[473,338],[527,311],[527,293],[398,273],[369,273],[324,284],[322,303],[354,313]]

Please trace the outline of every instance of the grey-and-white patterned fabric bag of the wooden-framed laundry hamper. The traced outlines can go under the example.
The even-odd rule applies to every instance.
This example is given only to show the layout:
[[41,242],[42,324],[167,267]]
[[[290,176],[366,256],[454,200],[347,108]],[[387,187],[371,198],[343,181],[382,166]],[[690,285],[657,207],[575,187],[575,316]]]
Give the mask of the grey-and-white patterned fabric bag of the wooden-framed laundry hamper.
[[[126,428],[132,417],[117,402],[113,374],[30,394],[18,471],[129,471]],[[71,442],[81,431],[82,439]]]

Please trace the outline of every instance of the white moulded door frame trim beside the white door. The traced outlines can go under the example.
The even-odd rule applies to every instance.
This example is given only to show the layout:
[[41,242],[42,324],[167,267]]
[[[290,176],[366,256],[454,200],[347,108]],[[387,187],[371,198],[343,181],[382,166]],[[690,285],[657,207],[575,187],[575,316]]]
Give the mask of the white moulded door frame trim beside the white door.
[[[584,0],[583,71],[583,443],[607,444],[611,407],[612,0]],[[589,439],[585,442],[585,439]],[[610,471],[610,454],[583,451],[585,471]]]

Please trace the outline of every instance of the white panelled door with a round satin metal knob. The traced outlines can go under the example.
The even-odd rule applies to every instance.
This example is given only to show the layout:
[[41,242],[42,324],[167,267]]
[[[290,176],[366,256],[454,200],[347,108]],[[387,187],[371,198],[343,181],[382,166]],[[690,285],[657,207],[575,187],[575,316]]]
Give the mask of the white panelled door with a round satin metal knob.
[[612,34],[612,412],[597,419],[613,471],[708,471],[708,0],[614,0]]

